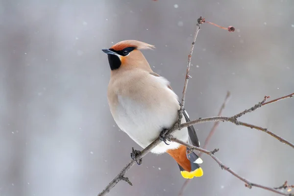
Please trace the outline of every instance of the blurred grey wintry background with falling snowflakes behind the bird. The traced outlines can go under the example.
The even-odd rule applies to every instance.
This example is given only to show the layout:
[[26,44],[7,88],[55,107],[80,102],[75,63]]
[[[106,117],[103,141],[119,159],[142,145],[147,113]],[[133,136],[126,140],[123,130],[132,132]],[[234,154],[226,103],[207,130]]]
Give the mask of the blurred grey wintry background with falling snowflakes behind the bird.
[[[96,196],[140,149],[110,114],[110,77],[102,48],[136,39],[154,72],[181,95],[196,19],[186,109],[191,119],[223,115],[294,92],[293,0],[1,0],[0,196]],[[240,120],[294,142],[294,99]],[[195,126],[204,143],[213,123]],[[269,135],[221,123],[208,149],[252,182],[294,184],[294,151]],[[274,196],[222,171],[203,156],[204,176],[185,196]],[[185,181],[167,154],[148,154],[109,196],[174,196]]]

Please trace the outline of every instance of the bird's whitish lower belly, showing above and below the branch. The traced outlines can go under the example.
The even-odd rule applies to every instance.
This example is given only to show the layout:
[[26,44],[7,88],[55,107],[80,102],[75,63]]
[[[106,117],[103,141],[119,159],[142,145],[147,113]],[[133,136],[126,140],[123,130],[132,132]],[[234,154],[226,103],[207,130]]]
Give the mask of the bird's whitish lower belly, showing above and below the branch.
[[[151,99],[150,99],[151,100]],[[158,138],[163,129],[170,129],[178,118],[178,102],[175,98],[167,98],[164,101],[137,102],[118,96],[116,115],[114,117],[119,127],[138,145],[145,148]],[[180,130],[173,134],[181,140],[188,139],[187,130]],[[153,148],[154,153],[164,153],[168,149],[177,148],[177,143],[166,145],[159,144]]]

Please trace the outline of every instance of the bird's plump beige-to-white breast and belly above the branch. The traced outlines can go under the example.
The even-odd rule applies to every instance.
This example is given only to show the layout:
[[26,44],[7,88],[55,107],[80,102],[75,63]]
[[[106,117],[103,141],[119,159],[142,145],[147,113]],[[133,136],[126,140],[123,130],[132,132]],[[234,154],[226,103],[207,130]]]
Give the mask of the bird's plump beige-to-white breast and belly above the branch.
[[177,96],[163,77],[145,75],[117,81],[108,89],[111,113],[118,126],[141,147],[177,120]]

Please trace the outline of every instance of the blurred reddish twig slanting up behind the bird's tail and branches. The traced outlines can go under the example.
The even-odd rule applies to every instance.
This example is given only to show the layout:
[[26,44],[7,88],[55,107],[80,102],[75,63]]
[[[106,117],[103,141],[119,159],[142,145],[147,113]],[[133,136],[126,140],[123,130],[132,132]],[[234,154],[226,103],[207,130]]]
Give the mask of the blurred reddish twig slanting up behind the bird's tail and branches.
[[[228,91],[227,94],[226,94],[226,96],[225,96],[225,98],[224,98],[224,101],[223,101],[223,103],[222,103],[222,105],[221,105],[221,109],[220,109],[220,111],[219,111],[219,113],[218,113],[218,116],[221,116],[221,113],[222,113],[223,109],[225,108],[225,105],[226,105],[227,102],[229,101],[230,95],[231,95],[231,93]],[[206,147],[207,147],[207,145],[208,145],[208,143],[209,143],[211,137],[212,137],[213,134],[215,133],[215,131],[216,131],[216,129],[217,129],[219,123],[220,123],[220,122],[217,121],[217,122],[215,122],[215,123],[213,124],[213,127],[212,127],[212,129],[210,130],[210,132],[209,132],[207,138],[205,139],[205,142],[204,142],[204,145],[203,145],[202,148],[206,149]],[[198,154],[199,157],[201,157],[201,155],[202,155],[202,152],[200,152],[200,153]],[[188,186],[189,182],[191,182],[191,180],[192,180],[192,179],[186,179],[186,180],[185,180],[184,184],[182,185],[182,188],[180,189],[179,196],[183,196],[184,191],[185,191],[186,187]]]

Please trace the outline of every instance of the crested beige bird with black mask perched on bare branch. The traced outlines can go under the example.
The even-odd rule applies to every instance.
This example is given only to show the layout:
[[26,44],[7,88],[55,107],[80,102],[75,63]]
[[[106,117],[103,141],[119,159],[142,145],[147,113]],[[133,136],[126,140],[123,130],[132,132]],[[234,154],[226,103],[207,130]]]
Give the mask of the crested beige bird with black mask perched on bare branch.
[[[167,143],[165,133],[178,120],[180,102],[172,90],[170,82],[154,73],[143,55],[143,49],[154,49],[153,45],[137,41],[124,40],[109,49],[102,49],[108,56],[110,80],[107,88],[107,100],[114,121],[133,141],[145,148],[158,137],[162,142],[151,152],[167,152],[177,162],[182,177],[191,179],[203,175],[199,166],[203,161],[193,150],[175,142]],[[189,122],[184,109],[181,123]],[[193,126],[177,130],[173,137],[192,143],[200,143]],[[139,154],[132,150],[131,157]],[[140,165],[142,160],[137,164]]]

